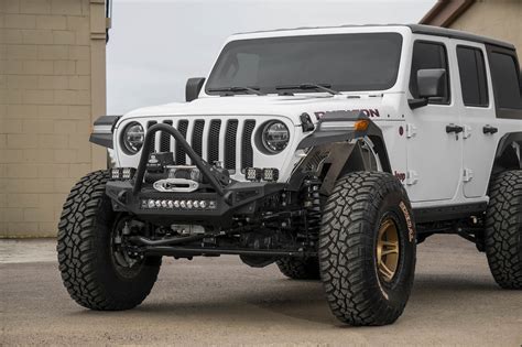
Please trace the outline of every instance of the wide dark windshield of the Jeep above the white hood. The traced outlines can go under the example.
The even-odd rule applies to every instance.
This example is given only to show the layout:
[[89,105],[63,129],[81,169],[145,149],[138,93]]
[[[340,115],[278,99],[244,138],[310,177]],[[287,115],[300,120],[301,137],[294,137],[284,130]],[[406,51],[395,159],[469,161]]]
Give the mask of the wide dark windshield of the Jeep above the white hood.
[[219,55],[205,91],[220,95],[217,89],[250,87],[273,94],[282,93],[278,86],[306,83],[327,85],[338,91],[384,90],[395,84],[401,46],[402,36],[398,33],[232,41]]

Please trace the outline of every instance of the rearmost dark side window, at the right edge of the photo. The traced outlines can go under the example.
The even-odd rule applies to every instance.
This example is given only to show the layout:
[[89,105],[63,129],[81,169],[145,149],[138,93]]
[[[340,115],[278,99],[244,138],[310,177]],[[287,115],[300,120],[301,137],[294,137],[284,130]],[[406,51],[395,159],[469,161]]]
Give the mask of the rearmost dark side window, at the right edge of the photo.
[[522,109],[519,69],[514,57],[493,51],[489,61],[497,107]]

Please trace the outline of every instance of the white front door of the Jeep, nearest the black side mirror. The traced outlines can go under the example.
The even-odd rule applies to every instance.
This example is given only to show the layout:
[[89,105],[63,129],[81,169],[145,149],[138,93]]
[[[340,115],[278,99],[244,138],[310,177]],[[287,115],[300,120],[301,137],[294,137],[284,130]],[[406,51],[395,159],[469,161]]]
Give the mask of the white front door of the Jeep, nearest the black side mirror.
[[449,40],[418,37],[413,46],[410,93],[418,98],[416,74],[424,68],[445,68],[447,91],[431,99],[406,118],[407,172],[406,191],[412,202],[455,198],[461,176],[463,133],[457,128],[460,116],[454,107],[452,86],[455,71],[448,64]]

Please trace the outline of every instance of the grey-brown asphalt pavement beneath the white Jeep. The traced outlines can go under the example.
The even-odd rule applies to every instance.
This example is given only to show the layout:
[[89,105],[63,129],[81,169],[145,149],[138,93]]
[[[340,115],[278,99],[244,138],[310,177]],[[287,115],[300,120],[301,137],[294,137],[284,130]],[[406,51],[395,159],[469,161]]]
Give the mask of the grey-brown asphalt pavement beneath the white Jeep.
[[344,326],[320,282],[237,257],[165,259],[151,295],[127,312],[79,307],[62,285],[54,240],[0,240],[0,346],[522,346],[522,292],[498,288],[486,256],[457,236],[418,246],[412,296],[384,327]]

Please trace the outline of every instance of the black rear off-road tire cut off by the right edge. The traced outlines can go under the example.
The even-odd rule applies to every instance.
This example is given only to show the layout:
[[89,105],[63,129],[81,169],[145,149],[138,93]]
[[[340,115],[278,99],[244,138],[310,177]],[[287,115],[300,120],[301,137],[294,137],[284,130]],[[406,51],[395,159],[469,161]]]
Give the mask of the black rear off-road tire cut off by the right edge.
[[494,281],[522,289],[522,171],[496,175],[489,186],[485,246]]

